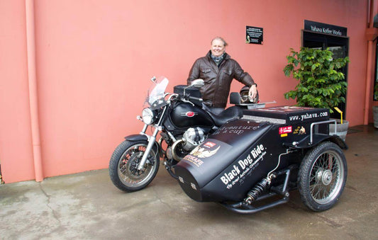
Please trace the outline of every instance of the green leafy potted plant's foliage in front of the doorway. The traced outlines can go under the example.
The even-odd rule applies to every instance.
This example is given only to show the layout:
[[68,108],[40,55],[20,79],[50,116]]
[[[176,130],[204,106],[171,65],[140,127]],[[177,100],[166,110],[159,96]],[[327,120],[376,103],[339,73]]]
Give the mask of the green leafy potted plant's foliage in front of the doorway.
[[287,66],[284,67],[285,76],[292,76],[299,80],[295,89],[284,93],[286,99],[296,98],[299,106],[313,108],[329,108],[339,103],[345,103],[347,83],[340,70],[349,62],[349,58],[333,58],[333,52],[327,50],[309,49],[302,47],[299,52],[292,48],[287,56]]

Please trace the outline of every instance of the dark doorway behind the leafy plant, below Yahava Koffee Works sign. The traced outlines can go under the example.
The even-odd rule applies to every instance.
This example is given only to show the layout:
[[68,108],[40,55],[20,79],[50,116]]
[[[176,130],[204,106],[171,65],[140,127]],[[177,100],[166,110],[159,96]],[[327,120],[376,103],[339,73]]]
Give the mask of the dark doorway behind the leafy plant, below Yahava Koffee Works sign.
[[[329,50],[333,52],[334,58],[348,57],[349,38],[303,30],[302,46],[319,50],[326,50],[329,48]],[[344,81],[348,82],[348,64],[342,69],[342,72],[345,76]],[[343,97],[345,98],[345,103],[340,103],[338,108],[343,111],[343,119],[345,119],[347,96]],[[333,111],[333,113],[330,114],[330,117],[340,118],[340,114]]]

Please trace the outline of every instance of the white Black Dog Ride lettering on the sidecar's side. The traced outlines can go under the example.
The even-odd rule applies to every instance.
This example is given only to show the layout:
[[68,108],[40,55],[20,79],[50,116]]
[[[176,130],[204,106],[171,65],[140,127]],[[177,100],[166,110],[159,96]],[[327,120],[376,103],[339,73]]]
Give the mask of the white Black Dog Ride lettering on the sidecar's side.
[[221,181],[226,185],[227,189],[233,188],[236,183],[243,184],[243,179],[248,176],[252,171],[259,166],[260,161],[264,160],[265,154],[267,154],[267,149],[263,144],[257,145],[250,154],[245,159],[240,159],[233,164],[230,170],[223,173],[221,176]]

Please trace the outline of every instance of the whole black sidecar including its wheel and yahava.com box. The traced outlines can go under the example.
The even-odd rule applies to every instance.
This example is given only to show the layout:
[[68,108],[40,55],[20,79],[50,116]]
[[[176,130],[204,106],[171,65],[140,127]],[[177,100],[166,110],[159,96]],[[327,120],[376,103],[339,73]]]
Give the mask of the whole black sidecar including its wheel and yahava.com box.
[[[339,200],[347,177],[342,149],[329,132],[329,110],[282,106],[245,108],[174,167],[187,195],[251,214],[289,201],[298,189],[313,211]],[[261,201],[264,200],[264,201]]]

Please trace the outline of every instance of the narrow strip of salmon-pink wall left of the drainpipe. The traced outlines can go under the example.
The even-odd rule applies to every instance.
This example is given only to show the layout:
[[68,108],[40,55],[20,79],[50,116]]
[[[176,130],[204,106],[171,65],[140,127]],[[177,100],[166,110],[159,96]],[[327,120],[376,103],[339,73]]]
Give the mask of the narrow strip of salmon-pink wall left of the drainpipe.
[[6,183],[34,178],[25,1],[0,1],[0,164]]

